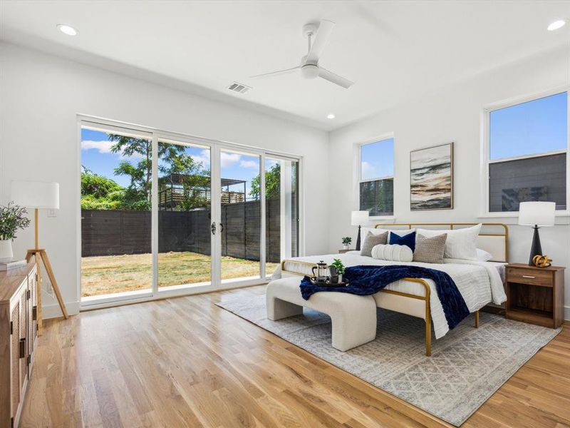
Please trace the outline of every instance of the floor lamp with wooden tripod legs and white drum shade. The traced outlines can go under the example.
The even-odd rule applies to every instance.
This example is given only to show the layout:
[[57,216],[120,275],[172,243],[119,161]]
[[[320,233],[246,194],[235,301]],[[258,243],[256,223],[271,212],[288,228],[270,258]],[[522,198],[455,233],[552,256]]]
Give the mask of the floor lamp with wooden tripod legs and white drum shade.
[[59,183],[46,183],[45,181],[27,181],[18,180],[12,181],[11,183],[11,200],[14,201],[16,205],[20,205],[26,208],[33,208],[34,218],[35,218],[35,247],[28,250],[26,254],[26,260],[29,262],[33,257],[36,258],[36,265],[38,265],[38,285],[36,297],[38,299],[38,335],[41,335],[43,329],[43,322],[41,317],[41,275],[39,270],[40,260],[43,262],[43,266],[46,268],[46,273],[53,287],[53,291],[56,293],[56,297],[61,307],[61,312],[63,312],[63,317],[68,319],[69,315],[66,310],[66,304],[61,298],[61,292],[59,291],[58,282],[56,281],[56,275],[53,274],[53,269],[51,268],[51,263],[48,258],[48,253],[43,248],[40,248],[38,241],[38,210],[57,210],[59,209]]

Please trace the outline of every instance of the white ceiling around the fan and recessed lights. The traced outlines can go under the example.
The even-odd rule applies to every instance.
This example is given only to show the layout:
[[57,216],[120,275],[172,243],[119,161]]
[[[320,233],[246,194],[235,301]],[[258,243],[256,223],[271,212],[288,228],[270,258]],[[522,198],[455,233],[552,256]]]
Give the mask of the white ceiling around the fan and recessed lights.
[[[570,18],[570,1],[2,0],[0,8],[6,41],[116,61],[323,129],[570,40],[570,25],[546,31]],[[248,77],[296,66],[306,54],[302,26],[320,19],[336,22],[321,66],[356,82],[351,88],[297,73]],[[61,34],[61,23],[79,35]],[[253,90],[229,92],[232,81]]]

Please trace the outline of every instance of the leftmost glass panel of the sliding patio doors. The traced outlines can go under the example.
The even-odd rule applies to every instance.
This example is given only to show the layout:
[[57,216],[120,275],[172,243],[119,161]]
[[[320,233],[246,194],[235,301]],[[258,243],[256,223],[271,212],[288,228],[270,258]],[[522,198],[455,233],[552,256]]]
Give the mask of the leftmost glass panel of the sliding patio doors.
[[81,299],[152,293],[152,135],[81,129]]

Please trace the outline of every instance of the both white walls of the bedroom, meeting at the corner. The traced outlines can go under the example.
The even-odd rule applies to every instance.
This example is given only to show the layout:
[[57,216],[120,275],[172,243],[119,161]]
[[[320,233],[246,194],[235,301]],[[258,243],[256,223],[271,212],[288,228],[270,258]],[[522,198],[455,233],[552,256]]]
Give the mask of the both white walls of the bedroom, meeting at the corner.
[[[568,54],[551,52],[518,63],[414,103],[379,113],[346,128],[324,131],[265,116],[229,104],[193,96],[155,83],[103,71],[92,66],[0,44],[0,203],[9,198],[10,180],[37,178],[61,183],[61,209],[56,218],[40,215],[41,243],[48,248],[71,312],[78,310],[76,287],[75,192],[78,185],[76,114],[139,123],[170,131],[233,141],[295,153],[304,157],[306,183],[306,254],[336,251],[340,238],[356,235],[350,211],[358,208],[354,191],[354,143],[395,134],[395,216],[398,222],[503,221],[480,213],[480,115],[482,107],[507,98],[544,91],[568,83]],[[376,94],[375,96],[381,96]],[[330,141],[330,145],[328,145]],[[455,142],[455,209],[410,212],[409,152]],[[329,151],[330,149],[330,151]],[[321,168],[323,156],[333,165]],[[323,189],[328,200],[323,204]],[[325,198],[326,199],[326,198]],[[334,209],[328,209],[328,207]],[[323,215],[326,212],[326,215]],[[556,265],[570,266],[570,230],[566,225],[541,229],[545,252]],[[510,260],[524,262],[530,247],[529,228],[511,225]],[[323,237],[328,237],[323,240]],[[33,229],[19,234],[14,250],[24,255]],[[566,272],[566,305],[570,306],[570,272]],[[46,313],[56,302],[44,295]],[[567,308],[566,318],[570,318]]]

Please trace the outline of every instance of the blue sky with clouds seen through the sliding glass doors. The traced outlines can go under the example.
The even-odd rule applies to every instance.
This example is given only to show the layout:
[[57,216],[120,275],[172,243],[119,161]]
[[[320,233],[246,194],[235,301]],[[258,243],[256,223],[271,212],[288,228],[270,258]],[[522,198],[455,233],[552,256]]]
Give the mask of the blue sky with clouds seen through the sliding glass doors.
[[[110,146],[111,143],[108,141],[106,133],[83,128],[81,130],[81,165],[92,170],[95,174],[112,178],[119,185],[127,187],[130,184],[128,176],[115,175],[113,170],[120,161],[126,160],[130,163],[137,163],[140,158],[136,156],[126,157],[121,153],[110,153]],[[209,148],[187,147],[186,153],[209,170]],[[266,168],[270,168],[275,162],[267,159]],[[221,165],[222,178],[247,180],[247,192],[249,193],[250,182],[259,173],[259,157],[222,151]],[[235,185],[230,190],[241,190],[242,188],[243,185]]]

